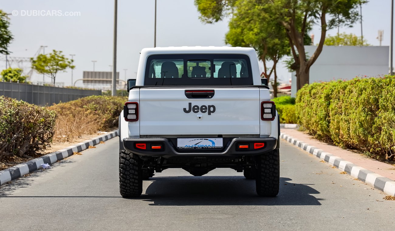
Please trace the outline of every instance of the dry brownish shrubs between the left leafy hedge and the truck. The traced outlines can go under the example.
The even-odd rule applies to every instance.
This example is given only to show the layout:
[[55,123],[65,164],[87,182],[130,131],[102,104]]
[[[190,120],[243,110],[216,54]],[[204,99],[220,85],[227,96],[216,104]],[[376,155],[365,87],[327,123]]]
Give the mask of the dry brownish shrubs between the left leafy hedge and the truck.
[[125,101],[127,98],[119,96],[88,96],[49,107],[58,114],[54,141],[71,141],[114,128]]

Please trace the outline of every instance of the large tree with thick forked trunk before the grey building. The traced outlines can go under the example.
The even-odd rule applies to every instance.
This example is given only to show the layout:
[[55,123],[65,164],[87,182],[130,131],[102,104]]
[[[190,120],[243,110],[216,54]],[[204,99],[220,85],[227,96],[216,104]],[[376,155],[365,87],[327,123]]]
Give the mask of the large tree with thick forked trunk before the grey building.
[[[242,0],[195,0],[200,19],[205,23],[222,20],[237,8]],[[297,89],[309,83],[310,67],[321,54],[328,29],[337,26],[352,26],[359,19],[357,7],[365,0],[254,0],[256,6],[270,15],[277,26],[286,30],[290,43],[294,68],[297,70]],[[329,20],[327,19],[329,18]],[[321,39],[316,50],[307,58],[305,37],[308,28],[317,23]]]

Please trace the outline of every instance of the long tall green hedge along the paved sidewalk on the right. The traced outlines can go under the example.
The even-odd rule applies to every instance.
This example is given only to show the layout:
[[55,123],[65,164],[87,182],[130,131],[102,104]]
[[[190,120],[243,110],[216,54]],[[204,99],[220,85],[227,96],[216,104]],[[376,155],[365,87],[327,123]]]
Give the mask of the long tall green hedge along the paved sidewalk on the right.
[[395,76],[305,85],[296,113],[319,139],[376,158],[395,156]]

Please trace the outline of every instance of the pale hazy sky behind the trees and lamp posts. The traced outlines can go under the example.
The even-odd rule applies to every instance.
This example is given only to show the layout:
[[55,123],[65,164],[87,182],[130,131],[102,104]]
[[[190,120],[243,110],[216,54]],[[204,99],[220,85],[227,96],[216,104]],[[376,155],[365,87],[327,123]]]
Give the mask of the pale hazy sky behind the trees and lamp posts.
[[[118,0],[117,70],[121,79],[135,78],[139,52],[154,46],[155,0]],[[0,0],[0,9],[11,13],[10,30],[14,40],[9,45],[10,56],[33,57],[45,47],[75,54],[73,80],[82,79],[83,71],[111,71],[113,58],[113,0]],[[56,11],[56,12],[55,12]],[[34,14],[40,15],[34,15]],[[66,15],[68,14],[68,15]],[[383,46],[390,43],[391,0],[370,0],[362,6],[363,37],[371,45],[379,45],[378,30],[384,30]],[[156,46],[226,46],[224,37],[228,20],[203,24],[194,0],[157,0]],[[340,33],[361,35],[361,25],[340,28]],[[327,34],[335,35],[337,28]],[[314,44],[320,40],[320,28],[315,25]],[[92,60],[97,61],[95,63]],[[24,73],[30,71],[28,62],[13,63]],[[0,69],[6,67],[5,56],[0,56]],[[262,68],[262,67],[261,67]],[[126,78],[125,71],[126,70]],[[291,74],[280,65],[278,76],[283,82]],[[33,72],[30,81],[42,81],[43,76]],[[49,82],[50,78],[45,77]],[[56,82],[71,85],[71,70],[59,73]],[[77,81],[76,86],[83,86]]]

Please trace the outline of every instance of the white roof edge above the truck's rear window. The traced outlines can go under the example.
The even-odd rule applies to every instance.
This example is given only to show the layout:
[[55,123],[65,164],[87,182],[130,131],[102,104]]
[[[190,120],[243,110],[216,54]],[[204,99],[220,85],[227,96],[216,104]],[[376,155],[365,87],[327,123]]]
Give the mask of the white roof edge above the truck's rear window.
[[144,48],[141,54],[252,54],[256,53],[254,48],[251,47],[154,47]]

